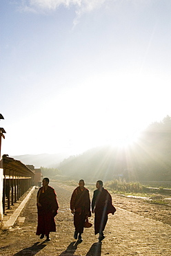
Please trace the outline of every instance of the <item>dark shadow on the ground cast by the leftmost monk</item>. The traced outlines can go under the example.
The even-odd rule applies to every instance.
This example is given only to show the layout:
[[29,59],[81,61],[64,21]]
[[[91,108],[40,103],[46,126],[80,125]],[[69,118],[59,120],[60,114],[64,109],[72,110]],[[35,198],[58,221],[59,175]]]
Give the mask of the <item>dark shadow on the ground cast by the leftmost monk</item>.
[[23,250],[20,250],[18,253],[15,253],[13,256],[35,255],[46,246],[46,244],[44,244],[45,242],[46,241],[43,241],[41,244],[39,244],[39,241],[37,241],[37,243],[33,244],[33,246],[24,248]]

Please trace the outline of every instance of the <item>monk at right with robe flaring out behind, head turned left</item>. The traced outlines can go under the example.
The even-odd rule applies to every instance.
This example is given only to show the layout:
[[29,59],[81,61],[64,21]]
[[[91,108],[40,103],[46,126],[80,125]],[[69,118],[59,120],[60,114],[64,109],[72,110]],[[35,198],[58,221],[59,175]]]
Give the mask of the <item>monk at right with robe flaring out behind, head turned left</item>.
[[95,235],[99,233],[99,242],[105,237],[103,230],[108,221],[108,214],[116,212],[116,209],[112,205],[112,196],[103,188],[103,181],[97,181],[97,190],[94,190],[92,198],[92,213],[95,214],[94,218],[94,232]]

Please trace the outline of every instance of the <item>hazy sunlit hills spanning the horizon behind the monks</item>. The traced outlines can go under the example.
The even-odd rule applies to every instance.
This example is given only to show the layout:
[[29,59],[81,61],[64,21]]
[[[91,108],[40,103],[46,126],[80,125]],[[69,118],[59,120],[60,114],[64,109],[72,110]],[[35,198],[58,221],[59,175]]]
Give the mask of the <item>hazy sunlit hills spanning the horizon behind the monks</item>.
[[35,167],[46,167],[43,171],[53,179],[61,176],[108,181],[121,177],[127,181],[171,181],[171,118],[167,116],[163,122],[152,123],[136,143],[124,147],[105,145],[77,156],[40,154],[14,158]]

